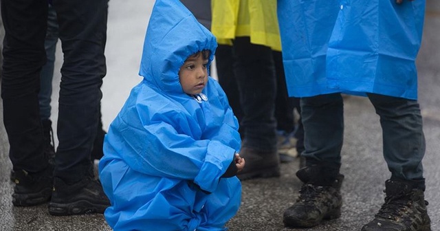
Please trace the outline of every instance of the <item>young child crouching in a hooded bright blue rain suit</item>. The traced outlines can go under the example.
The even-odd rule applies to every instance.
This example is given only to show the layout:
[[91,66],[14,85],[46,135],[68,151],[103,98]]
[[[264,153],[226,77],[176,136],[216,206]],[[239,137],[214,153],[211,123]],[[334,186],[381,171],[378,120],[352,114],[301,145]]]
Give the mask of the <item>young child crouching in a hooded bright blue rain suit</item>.
[[241,203],[238,122],[208,76],[217,42],[157,0],[135,86],[104,140],[100,180],[114,230],[225,230]]

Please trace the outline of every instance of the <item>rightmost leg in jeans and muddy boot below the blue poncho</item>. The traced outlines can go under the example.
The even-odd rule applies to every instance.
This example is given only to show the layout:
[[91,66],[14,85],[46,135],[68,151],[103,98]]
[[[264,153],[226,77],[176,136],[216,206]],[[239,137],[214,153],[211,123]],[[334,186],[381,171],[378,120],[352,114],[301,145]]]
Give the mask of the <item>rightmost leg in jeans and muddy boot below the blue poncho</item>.
[[[425,155],[425,137],[417,100],[368,94],[380,116],[384,158],[391,171],[385,182],[385,203],[375,219],[362,230],[377,230],[377,223],[391,230],[430,230],[423,191],[425,179],[421,161]],[[402,213],[400,211],[406,211]],[[406,227],[406,228],[404,228]]]

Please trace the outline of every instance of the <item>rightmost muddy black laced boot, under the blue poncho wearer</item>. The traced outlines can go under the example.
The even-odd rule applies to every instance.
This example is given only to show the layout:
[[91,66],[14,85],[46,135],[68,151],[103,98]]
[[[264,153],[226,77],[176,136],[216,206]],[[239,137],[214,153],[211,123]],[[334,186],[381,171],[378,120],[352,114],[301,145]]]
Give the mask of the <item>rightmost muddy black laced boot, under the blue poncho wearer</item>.
[[362,231],[431,231],[423,190],[410,181],[387,180],[385,203]]

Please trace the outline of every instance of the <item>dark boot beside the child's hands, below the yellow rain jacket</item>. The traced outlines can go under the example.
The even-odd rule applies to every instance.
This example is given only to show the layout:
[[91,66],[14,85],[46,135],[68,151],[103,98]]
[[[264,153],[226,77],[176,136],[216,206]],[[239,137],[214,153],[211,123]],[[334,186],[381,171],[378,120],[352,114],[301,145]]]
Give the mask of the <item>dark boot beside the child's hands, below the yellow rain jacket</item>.
[[246,160],[245,168],[236,175],[241,180],[279,177],[281,175],[277,151],[257,151],[243,147],[240,155]]

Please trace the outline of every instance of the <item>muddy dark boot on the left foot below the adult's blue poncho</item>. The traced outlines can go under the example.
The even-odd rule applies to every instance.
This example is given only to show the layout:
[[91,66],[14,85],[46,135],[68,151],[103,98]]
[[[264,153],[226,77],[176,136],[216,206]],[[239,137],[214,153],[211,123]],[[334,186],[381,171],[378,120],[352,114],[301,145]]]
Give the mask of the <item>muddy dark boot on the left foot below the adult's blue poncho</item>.
[[[327,172],[327,173],[326,173]],[[338,170],[336,170],[338,172]],[[309,228],[318,225],[322,219],[340,217],[342,197],[340,193],[344,175],[335,174],[326,179],[328,171],[321,166],[307,166],[298,170],[296,176],[303,181],[298,199],[283,214],[287,227]]]

